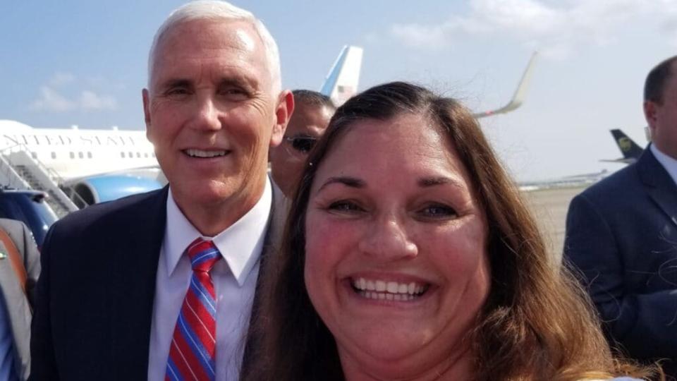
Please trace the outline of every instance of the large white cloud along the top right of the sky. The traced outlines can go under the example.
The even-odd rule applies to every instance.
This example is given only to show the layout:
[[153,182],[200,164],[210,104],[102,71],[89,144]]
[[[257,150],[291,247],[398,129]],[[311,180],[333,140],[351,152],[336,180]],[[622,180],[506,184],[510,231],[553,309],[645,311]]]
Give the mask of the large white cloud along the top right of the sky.
[[650,17],[677,37],[677,0],[470,0],[465,16],[440,23],[392,25],[410,47],[443,49],[468,35],[508,37],[546,56],[563,57],[584,44],[607,44],[632,20]]

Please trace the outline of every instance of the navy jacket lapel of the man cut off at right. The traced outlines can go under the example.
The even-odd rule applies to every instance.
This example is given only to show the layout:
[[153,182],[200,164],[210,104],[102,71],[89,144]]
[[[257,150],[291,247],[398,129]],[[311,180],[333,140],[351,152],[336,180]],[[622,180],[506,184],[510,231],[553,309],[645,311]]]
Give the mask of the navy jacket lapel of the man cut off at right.
[[640,157],[637,169],[649,197],[677,226],[677,185],[648,147]]

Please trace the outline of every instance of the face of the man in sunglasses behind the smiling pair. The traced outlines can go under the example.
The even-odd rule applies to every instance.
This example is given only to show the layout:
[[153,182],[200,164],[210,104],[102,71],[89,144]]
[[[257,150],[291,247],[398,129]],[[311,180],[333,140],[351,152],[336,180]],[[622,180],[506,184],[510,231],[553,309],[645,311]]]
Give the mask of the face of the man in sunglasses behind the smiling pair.
[[288,198],[293,196],[310,148],[327,129],[332,114],[334,109],[326,106],[296,104],[282,144],[270,151],[273,180]]

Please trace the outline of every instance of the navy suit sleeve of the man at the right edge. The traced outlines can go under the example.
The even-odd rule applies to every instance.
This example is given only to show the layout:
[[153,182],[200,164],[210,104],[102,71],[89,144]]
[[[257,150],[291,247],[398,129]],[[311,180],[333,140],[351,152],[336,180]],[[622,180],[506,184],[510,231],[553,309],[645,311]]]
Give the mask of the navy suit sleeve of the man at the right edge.
[[677,358],[677,291],[626,292],[618,242],[585,195],[569,205],[564,252],[580,270],[606,333],[621,349],[634,358]]

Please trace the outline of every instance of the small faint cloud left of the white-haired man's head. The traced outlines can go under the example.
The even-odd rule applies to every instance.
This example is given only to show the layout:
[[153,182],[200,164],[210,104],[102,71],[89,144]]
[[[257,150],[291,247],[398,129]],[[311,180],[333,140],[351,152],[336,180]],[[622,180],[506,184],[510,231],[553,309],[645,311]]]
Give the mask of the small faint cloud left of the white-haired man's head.
[[71,73],[55,73],[49,78],[46,85],[40,87],[39,96],[30,103],[29,109],[34,111],[66,112],[75,110],[102,111],[117,108],[118,102],[115,97],[97,94],[97,92],[92,90],[69,92],[70,94],[78,94],[71,97],[64,95],[65,91],[63,87],[73,85],[76,83],[76,79],[75,75]]

